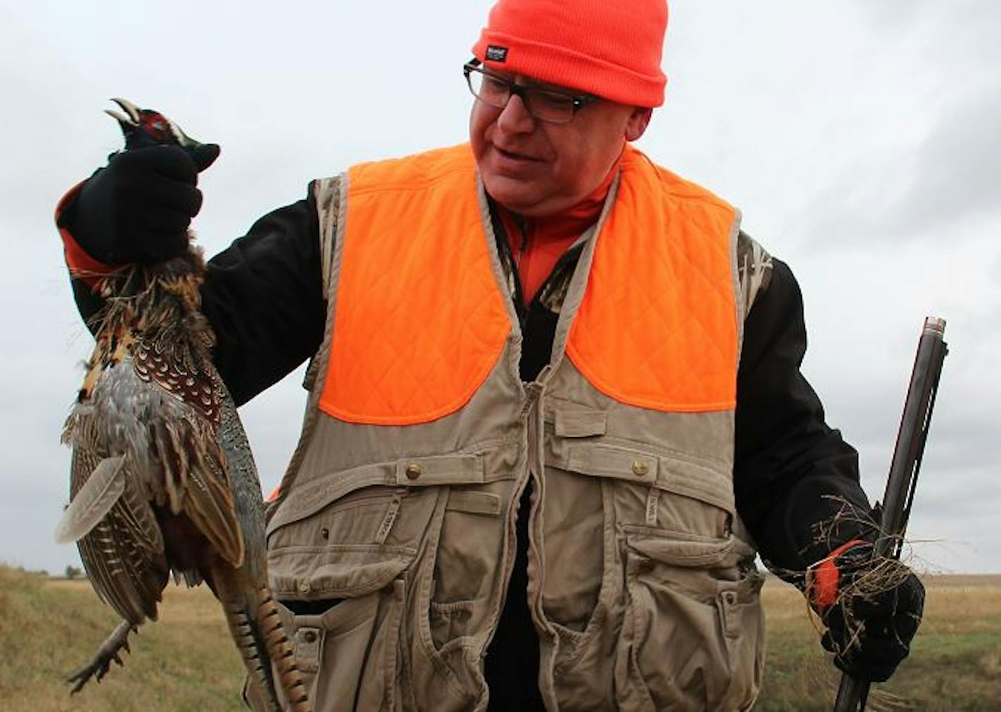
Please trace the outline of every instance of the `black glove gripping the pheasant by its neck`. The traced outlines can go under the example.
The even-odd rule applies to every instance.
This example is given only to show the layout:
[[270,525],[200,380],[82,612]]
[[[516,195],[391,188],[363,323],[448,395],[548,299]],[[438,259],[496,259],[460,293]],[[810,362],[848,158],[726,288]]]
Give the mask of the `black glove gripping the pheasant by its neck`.
[[105,264],[175,257],[187,248],[188,225],[201,208],[198,173],[218,155],[213,143],[117,153],[84,183],[61,222]]

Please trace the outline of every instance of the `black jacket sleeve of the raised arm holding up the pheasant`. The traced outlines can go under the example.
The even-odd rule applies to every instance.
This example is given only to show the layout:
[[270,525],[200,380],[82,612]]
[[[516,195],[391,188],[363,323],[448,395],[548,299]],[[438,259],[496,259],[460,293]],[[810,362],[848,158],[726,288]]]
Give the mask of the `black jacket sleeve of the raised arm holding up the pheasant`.
[[[73,293],[93,326],[101,299],[76,278]],[[212,257],[201,295],[215,367],[237,406],[310,358],[326,316],[312,185],[304,199],[264,215]]]

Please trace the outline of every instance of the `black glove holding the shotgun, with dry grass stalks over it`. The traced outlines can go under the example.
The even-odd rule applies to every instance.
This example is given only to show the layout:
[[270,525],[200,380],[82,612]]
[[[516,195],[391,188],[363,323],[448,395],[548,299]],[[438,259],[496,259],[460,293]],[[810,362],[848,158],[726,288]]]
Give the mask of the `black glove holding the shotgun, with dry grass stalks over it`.
[[831,563],[837,598],[833,603],[814,600],[828,629],[821,645],[834,653],[840,670],[883,682],[910,652],[921,623],[925,587],[904,564],[875,556],[869,543],[854,544],[826,562],[829,574]]

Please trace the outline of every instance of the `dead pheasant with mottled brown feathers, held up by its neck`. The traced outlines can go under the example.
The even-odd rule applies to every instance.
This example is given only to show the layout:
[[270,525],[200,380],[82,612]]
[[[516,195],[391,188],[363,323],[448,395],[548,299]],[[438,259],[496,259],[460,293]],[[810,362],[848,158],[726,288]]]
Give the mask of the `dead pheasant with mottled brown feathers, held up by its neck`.
[[[123,150],[202,145],[162,114],[114,101],[125,113],[107,113]],[[123,620],[69,682],[76,693],[112,661],[122,664],[129,633],[156,620],[173,572],[188,586],[206,582],[221,603],[252,694],[271,710],[283,699],[307,712],[267,586],[257,471],[199,311],[204,262],[188,244],[179,257],[131,265],[99,285],[97,343],[63,432],[71,502],[56,540],[77,542],[95,592]]]

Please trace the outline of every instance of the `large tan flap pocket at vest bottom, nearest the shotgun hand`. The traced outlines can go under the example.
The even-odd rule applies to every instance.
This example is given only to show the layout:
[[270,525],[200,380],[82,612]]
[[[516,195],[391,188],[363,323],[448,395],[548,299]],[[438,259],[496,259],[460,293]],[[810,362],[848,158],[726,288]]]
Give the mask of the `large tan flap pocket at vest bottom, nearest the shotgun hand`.
[[624,529],[623,689],[657,710],[750,709],[764,666],[764,578],[733,564],[732,538]]

